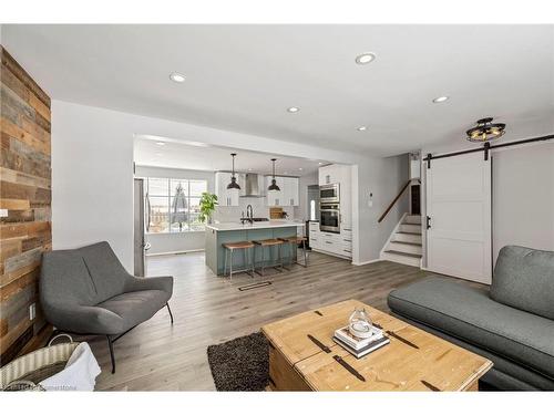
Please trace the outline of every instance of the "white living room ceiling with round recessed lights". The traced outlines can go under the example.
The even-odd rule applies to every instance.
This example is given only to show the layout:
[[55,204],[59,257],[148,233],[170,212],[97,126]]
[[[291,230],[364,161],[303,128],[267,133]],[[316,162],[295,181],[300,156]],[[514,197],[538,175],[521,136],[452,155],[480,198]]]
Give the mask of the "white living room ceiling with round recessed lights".
[[332,149],[460,142],[483,116],[506,138],[554,129],[553,25],[2,25],[2,42],[53,98]]

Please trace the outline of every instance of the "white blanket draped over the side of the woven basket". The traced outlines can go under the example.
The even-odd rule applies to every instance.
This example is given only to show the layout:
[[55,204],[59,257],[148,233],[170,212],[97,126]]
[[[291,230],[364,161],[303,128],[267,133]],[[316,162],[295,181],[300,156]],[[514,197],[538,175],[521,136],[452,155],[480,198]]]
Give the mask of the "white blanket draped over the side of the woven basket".
[[94,391],[101,370],[89,343],[80,343],[65,369],[40,383],[47,391]]

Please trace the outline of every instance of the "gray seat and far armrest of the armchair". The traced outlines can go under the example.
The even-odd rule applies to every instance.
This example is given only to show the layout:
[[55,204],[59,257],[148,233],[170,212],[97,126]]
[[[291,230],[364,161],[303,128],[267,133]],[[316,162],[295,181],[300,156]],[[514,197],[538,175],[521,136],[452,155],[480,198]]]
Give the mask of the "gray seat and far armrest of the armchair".
[[123,320],[119,332],[124,332],[148,320],[170,300],[171,294],[162,290],[132,291],[115,295],[96,307],[109,310]]

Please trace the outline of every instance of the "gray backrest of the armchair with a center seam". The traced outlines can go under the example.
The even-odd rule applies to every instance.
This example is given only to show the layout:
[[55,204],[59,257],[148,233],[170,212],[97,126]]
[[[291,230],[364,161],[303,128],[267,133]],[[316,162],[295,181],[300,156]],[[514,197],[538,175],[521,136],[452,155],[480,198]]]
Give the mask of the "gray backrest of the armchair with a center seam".
[[40,294],[49,303],[96,305],[123,293],[129,273],[107,242],[55,250],[42,257]]

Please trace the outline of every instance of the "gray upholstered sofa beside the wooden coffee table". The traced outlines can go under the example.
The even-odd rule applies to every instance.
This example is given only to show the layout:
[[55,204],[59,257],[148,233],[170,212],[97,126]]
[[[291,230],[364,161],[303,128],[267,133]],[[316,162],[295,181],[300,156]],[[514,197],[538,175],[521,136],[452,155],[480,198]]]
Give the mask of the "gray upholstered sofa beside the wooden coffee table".
[[554,390],[554,252],[507,246],[489,289],[429,277],[391,291],[393,315],[490,359],[483,387]]

